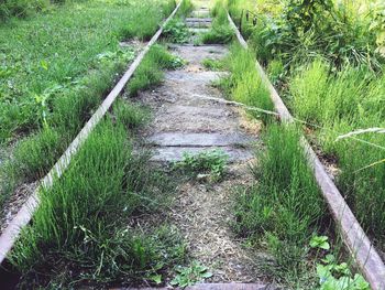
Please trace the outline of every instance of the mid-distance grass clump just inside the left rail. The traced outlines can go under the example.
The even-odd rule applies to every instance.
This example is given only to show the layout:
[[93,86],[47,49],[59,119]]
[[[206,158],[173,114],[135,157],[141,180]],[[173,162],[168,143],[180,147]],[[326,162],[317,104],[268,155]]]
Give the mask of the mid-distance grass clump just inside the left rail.
[[161,84],[162,69],[176,69],[183,65],[183,60],[168,53],[165,47],[152,46],[129,84],[130,95],[136,96],[140,90]]

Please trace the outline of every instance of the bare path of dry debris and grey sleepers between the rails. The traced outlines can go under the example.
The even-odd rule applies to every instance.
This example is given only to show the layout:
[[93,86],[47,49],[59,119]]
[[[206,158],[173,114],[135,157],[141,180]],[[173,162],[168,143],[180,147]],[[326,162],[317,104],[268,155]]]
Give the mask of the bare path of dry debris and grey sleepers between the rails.
[[[199,8],[186,19],[194,33],[210,26],[208,11],[207,7]],[[170,45],[170,50],[187,65],[167,72],[162,86],[140,94],[138,99],[150,106],[153,114],[152,122],[142,132],[144,147],[153,151],[152,160],[161,164],[179,161],[184,152],[211,149],[220,149],[229,157],[226,176],[220,182],[202,179],[179,184],[170,219],[182,230],[191,260],[213,273],[206,282],[253,282],[251,287],[260,289],[264,279],[257,269],[258,253],[242,247],[230,228],[234,190],[252,183],[249,165],[254,162],[260,123],[246,120],[238,108],[205,99],[223,98],[212,82],[227,73],[209,72],[202,61],[224,57],[224,45],[189,43]]]

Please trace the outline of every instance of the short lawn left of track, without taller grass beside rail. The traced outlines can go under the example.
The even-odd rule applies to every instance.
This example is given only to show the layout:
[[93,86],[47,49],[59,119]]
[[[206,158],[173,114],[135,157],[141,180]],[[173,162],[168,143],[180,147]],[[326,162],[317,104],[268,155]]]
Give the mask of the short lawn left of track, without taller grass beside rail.
[[[0,140],[40,128],[40,99],[54,115],[56,98],[72,94],[85,74],[102,71],[107,60],[119,58],[120,40],[153,35],[169,12],[162,3],[170,1],[69,3],[2,24],[0,39],[7,42],[1,51]],[[148,21],[142,23],[143,18]]]

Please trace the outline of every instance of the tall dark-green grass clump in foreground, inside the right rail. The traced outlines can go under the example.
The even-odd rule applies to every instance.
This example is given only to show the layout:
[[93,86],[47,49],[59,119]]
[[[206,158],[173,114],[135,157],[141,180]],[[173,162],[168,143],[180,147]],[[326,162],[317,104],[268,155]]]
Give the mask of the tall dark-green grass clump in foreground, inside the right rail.
[[296,128],[270,126],[266,151],[253,169],[258,183],[241,191],[234,207],[235,233],[251,240],[262,237],[275,258],[277,276],[289,280],[309,272],[307,245],[326,212],[299,136]]

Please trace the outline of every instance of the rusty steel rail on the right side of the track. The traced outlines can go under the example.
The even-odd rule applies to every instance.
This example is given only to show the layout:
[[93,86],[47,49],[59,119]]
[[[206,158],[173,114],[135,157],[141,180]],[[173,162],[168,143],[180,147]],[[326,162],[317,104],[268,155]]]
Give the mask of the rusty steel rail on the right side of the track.
[[[228,19],[240,44],[244,49],[248,49],[248,43],[243,39],[229,13]],[[257,61],[255,62],[255,67],[270,90],[275,110],[278,112],[280,120],[286,123],[293,123],[295,121],[293,116]],[[342,234],[345,246],[348,247],[365,279],[371,284],[372,289],[384,290],[385,266],[383,260],[304,136],[301,136],[300,144],[306,152],[308,164],[314,171],[316,181],[328,203],[331,215]]]

